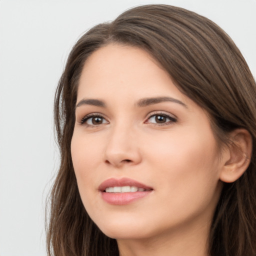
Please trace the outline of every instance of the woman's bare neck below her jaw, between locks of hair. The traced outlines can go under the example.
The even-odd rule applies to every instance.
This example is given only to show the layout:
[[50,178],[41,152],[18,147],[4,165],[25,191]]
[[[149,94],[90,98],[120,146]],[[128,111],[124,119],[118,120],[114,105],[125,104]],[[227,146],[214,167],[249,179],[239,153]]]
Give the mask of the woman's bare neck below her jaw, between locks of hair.
[[210,223],[148,238],[118,239],[120,256],[208,256]]

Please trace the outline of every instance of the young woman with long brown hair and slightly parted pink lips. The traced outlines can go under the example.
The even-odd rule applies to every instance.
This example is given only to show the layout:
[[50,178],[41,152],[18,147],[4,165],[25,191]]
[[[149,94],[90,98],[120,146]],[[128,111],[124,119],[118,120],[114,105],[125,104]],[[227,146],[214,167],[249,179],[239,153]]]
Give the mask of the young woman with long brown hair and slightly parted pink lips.
[[256,255],[256,86],[212,21],[129,9],[74,45],[55,96],[49,255]]

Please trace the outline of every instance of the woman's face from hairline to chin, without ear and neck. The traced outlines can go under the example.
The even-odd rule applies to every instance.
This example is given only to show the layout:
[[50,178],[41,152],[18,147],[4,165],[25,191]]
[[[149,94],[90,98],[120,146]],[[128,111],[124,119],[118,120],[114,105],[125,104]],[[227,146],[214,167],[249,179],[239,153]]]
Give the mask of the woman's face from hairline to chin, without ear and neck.
[[73,167],[106,235],[209,227],[223,165],[209,119],[146,51],[109,44],[92,53],[76,104]]

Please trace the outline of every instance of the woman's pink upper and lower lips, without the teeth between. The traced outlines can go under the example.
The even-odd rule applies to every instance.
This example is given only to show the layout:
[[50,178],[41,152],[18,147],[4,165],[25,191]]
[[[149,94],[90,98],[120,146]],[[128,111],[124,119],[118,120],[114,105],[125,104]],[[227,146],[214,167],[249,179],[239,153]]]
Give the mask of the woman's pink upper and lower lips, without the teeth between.
[[[137,186],[137,187],[142,187],[146,189],[146,191],[117,192],[117,193],[105,192],[105,189],[107,187],[113,187],[113,186]],[[98,190],[100,191],[104,201],[110,204],[123,205],[148,195],[152,191],[152,188],[130,178],[121,178],[121,179],[109,178],[103,181],[99,185]]]

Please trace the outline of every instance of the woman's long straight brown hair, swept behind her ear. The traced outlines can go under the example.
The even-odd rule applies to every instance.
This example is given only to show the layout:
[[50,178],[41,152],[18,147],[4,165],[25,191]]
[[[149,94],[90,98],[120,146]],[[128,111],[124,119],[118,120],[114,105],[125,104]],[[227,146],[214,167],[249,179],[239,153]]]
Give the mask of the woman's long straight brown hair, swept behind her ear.
[[61,163],[50,195],[48,255],[118,255],[84,209],[74,175],[70,141],[77,84],[86,58],[108,43],[149,52],[185,95],[204,108],[218,141],[243,127],[253,142],[251,162],[224,183],[209,234],[211,256],[256,255],[256,85],[229,36],[209,19],[183,8],[144,5],[87,31],[73,46],[55,94],[55,127]]

